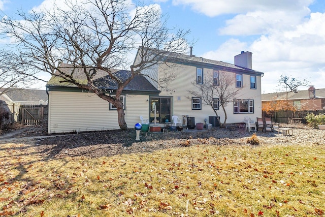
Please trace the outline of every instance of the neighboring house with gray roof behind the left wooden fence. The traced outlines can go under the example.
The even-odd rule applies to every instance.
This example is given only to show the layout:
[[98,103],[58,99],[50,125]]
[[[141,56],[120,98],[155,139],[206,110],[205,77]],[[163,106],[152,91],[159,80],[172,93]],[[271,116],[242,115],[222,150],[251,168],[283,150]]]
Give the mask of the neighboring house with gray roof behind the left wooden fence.
[[46,90],[41,89],[4,89],[0,88],[0,100],[20,105],[47,105]]

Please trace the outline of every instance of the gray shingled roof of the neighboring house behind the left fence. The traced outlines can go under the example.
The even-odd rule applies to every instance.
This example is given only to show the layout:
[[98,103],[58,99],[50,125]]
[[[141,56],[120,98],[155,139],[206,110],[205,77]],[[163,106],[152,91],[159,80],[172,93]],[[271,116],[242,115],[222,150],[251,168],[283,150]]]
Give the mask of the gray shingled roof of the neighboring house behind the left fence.
[[6,95],[15,102],[39,102],[40,100],[46,102],[48,100],[46,90],[42,89],[10,89]]

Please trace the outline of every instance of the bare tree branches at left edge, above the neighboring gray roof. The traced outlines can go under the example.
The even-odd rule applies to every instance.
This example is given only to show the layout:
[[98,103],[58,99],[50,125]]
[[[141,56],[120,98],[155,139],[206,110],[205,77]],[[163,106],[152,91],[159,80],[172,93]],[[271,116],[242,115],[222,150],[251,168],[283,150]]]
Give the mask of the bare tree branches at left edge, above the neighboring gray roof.
[[0,96],[13,89],[30,87],[37,81],[35,74],[19,63],[13,51],[0,50]]

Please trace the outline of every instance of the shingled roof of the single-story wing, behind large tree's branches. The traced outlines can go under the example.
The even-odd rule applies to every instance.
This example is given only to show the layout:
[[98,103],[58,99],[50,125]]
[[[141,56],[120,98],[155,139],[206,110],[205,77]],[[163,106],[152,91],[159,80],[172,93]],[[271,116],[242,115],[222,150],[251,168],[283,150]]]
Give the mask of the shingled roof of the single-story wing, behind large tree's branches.
[[[83,68],[75,68],[70,64],[61,64],[61,70],[69,75],[73,75],[73,77],[80,82],[81,84],[87,84],[87,78],[85,73],[83,72]],[[91,67],[89,67],[89,70]],[[117,70],[112,69],[112,73],[115,73],[117,77],[119,77],[122,81],[126,80],[131,72],[127,70]],[[59,72],[55,72],[58,74]],[[47,87],[76,87],[76,85],[68,82],[60,82],[62,78],[58,76],[52,76],[51,79],[47,82]],[[107,72],[103,70],[96,70],[96,75],[94,76],[93,82],[96,86],[106,89],[106,90],[114,90],[117,88],[117,83],[113,79],[111,79]],[[132,91],[152,91],[159,92],[144,76],[136,75],[134,79],[129,82],[124,90],[132,90]]]

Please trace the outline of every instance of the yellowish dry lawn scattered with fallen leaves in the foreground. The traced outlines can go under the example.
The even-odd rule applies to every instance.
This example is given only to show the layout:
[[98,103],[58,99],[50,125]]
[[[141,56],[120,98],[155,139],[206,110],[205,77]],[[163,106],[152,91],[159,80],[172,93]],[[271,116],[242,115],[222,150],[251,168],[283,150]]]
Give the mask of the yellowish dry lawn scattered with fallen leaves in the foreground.
[[325,146],[199,144],[44,158],[1,144],[0,215],[324,216]]

